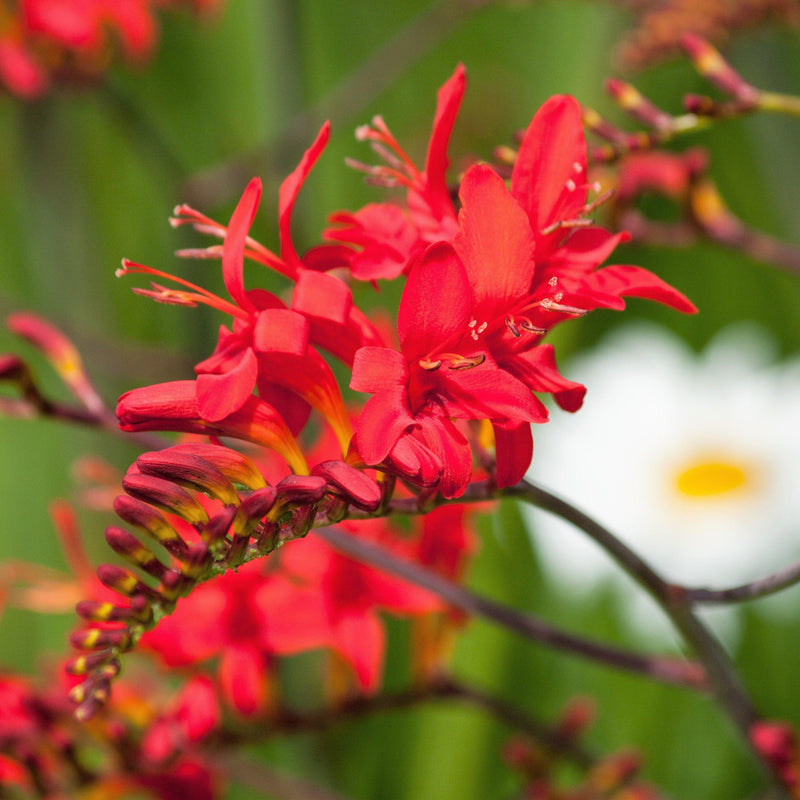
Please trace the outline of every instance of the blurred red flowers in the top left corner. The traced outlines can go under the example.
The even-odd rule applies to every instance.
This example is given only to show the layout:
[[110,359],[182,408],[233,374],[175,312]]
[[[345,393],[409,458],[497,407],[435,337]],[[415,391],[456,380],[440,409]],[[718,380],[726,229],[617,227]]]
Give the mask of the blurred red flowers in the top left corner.
[[[116,46],[141,63],[158,38],[156,10],[183,0],[19,0],[0,6],[0,83],[33,99],[53,83],[102,74]],[[197,11],[220,0],[188,0]]]

